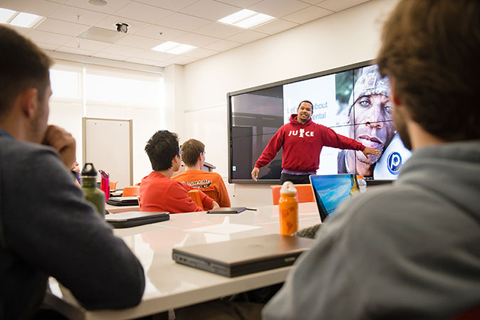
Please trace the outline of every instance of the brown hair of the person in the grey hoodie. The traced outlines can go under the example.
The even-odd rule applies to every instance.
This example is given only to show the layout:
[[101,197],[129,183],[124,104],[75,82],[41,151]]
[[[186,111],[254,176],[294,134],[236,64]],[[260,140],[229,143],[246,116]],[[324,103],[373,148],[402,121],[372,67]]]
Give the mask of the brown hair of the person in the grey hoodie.
[[480,138],[480,1],[400,1],[377,64],[424,130],[446,141]]

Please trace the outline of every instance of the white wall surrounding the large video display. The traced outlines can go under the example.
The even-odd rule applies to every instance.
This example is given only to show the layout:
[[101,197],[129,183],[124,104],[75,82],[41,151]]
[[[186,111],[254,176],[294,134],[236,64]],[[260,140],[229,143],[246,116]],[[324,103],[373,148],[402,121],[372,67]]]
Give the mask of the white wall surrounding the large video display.
[[[167,102],[167,110],[176,110],[175,122],[182,119],[175,128],[180,142],[189,138],[204,142],[207,162],[226,180],[226,93],[375,58],[382,21],[396,2],[372,0],[186,65],[182,104]],[[175,81],[165,71],[165,83]],[[232,206],[271,204],[267,185],[237,183],[227,188]]]

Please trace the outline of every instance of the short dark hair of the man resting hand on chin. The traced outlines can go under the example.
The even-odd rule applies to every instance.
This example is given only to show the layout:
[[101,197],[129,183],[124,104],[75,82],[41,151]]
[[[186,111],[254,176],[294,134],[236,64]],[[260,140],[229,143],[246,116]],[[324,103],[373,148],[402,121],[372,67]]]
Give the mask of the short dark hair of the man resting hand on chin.
[[0,119],[13,107],[20,92],[36,88],[38,100],[50,85],[51,59],[33,42],[0,25]]

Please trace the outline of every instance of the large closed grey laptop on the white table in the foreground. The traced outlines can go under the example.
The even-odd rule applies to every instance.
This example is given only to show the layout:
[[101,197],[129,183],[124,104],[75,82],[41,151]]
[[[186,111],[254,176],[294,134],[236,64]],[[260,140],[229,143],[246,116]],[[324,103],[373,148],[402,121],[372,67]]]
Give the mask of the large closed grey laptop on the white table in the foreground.
[[292,265],[308,250],[312,239],[289,235],[260,235],[252,238],[174,247],[172,259],[182,265],[237,277]]

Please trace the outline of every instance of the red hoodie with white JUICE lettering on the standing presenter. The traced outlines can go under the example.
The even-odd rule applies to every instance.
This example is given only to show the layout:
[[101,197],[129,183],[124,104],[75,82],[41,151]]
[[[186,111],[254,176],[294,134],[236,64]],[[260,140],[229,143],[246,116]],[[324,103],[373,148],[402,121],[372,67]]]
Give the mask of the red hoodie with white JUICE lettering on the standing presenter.
[[282,146],[282,168],[297,172],[317,171],[323,146],[362,151],[365,149],[360,142],[316,124],[312,119],[301,124],[297,120],[297,114],[291,114],[290,123],[278,129],[256,161],[255,167],[261,168],[270,163]]

